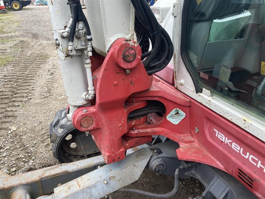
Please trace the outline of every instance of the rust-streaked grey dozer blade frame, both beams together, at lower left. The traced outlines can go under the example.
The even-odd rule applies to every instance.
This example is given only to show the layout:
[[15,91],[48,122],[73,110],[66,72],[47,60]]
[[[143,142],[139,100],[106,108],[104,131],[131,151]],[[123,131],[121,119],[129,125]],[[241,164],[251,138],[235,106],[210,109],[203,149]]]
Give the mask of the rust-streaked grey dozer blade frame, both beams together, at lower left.
[[[108,165],[100,155],[5,176],[0,183],[0,198],[101,198],[138,180],[151,155],[150,149],[142,148]],[[99,165],[104,166],[95,169]]]

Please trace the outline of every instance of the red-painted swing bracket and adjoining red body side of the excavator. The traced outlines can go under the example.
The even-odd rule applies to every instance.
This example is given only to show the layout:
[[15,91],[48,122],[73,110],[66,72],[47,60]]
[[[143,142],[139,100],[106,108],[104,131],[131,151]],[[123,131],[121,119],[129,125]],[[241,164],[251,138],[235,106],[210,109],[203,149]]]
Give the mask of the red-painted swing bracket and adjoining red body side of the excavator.
[[[129,63],[122,60],[127,48],[134,48],[138,56]],[[264,198],[264,142],[174,85],[156,75],[148,76],[140,55],[141,49],[135,42],[120,38],[113,43],[103,64],[93,73],[95,105],[74,111],[74,127],[92,134],[106,163],[123,159],[127,149],[151,141],[151,135],[164,135],[179,143],[176,150],[179,159],[226,171],[256,196]],[[126,69],[130,69],[129,73]],[[131,111],[146,106],[147,100],[162,102],[165,114],[127,119]],[[184,113],[178,124],[168,119],[174,110],[176,116]]]

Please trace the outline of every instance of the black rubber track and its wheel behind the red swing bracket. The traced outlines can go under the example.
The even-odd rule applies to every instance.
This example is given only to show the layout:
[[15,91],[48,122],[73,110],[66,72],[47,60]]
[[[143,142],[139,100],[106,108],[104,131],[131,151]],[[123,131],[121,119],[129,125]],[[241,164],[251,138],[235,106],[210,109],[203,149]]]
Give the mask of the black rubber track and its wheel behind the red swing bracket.
[[66,109],[58,111],[50,124],[53,156],[60,163],[69,163],[100,155],[92,136],[74,128],[66,114]]

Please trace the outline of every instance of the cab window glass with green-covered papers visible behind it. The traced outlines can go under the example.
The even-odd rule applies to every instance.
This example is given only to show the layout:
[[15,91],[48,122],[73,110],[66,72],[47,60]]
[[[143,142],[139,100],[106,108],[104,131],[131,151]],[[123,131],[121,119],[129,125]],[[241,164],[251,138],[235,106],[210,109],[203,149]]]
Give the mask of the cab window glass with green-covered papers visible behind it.
[[187,54],[202,82],[248,110],[265,110],[265,0],[192,0]]

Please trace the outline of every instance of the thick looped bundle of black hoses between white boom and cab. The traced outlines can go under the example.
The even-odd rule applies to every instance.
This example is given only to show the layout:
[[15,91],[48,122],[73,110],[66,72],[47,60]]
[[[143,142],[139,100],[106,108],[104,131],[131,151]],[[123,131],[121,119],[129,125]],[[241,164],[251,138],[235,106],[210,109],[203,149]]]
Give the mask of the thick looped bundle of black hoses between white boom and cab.
[[[157,22],[147,1],[131,0],[135,8],[134,30],[142,48],[142,60],[148,75],[161,71],[173,56],[173,43],[168,33]],[[149,49],[149,39],[152,50]]]

